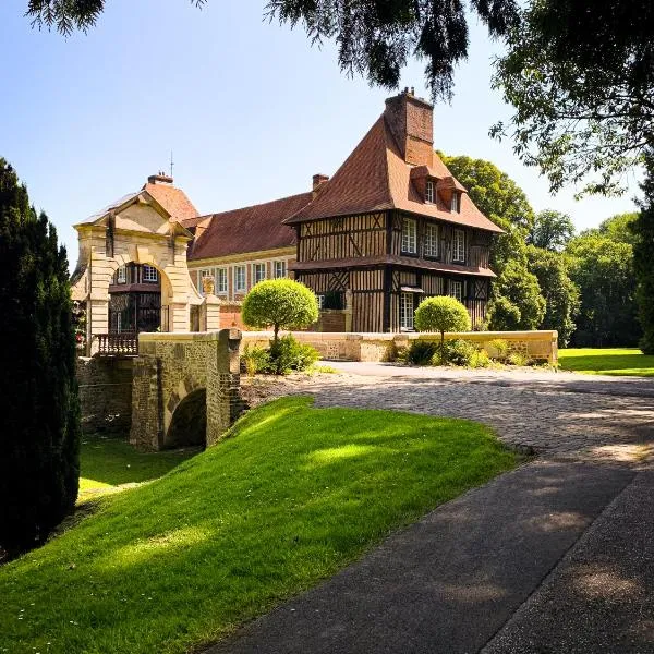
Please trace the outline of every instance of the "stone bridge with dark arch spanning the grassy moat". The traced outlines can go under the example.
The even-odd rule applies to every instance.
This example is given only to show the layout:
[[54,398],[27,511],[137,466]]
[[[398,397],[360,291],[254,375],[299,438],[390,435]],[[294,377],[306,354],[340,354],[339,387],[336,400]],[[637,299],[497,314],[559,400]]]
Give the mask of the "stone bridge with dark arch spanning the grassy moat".
[[238,329],[141,334],[130,443],[142,450],[213,445],[242,409]]

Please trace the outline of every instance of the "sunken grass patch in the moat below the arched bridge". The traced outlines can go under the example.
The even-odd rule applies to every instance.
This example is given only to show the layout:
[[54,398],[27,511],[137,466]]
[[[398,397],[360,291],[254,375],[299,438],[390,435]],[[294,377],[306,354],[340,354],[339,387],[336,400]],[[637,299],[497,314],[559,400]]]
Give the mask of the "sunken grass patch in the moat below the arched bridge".
[[147,482],[162,476],[197,449],[144,453],[122,438],[85,436],[80,452],[80,500],[122,484]]

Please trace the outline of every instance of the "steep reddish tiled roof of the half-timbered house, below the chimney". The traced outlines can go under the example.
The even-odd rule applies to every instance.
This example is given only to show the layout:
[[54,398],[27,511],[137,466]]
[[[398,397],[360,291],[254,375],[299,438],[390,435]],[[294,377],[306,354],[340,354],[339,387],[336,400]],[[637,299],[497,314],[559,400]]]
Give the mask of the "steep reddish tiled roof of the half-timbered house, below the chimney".
[[[436,153],[427,169],[436,179],[452,178]],[[293,225],[347,214],[401,209],[457,225],[502,232],[475,207],[464,192],[458,213],[450,211],[440,197],[434,204],[425,203],[411,180],[412,170],[413,167],[402,158],[383,114],[316,199],[286,222]],[[453,181],[455,187],[462,191],[463,186]]]

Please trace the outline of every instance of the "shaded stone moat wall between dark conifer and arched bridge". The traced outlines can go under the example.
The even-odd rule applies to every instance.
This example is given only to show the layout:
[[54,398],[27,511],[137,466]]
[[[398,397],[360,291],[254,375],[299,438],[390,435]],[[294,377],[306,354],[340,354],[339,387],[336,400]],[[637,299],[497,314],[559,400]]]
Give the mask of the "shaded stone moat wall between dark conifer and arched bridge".
[[121,432],[132,423],[133,359],[77,359],[82,428],[85,433]]

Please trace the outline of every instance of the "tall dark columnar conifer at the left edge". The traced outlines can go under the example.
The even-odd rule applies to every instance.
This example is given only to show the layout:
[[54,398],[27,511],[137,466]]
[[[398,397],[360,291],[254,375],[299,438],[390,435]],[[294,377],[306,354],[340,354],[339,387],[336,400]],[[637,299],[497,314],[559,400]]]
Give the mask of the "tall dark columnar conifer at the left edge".
[[80,476],[65,251],[0,158],[0,547],[43,543],[74,507]]

